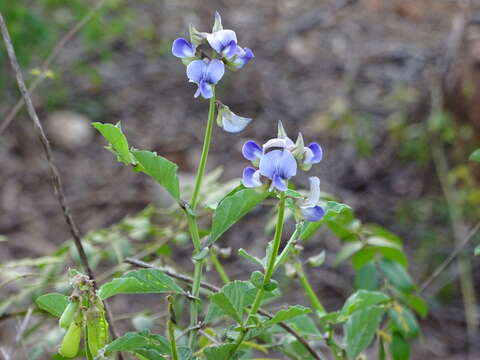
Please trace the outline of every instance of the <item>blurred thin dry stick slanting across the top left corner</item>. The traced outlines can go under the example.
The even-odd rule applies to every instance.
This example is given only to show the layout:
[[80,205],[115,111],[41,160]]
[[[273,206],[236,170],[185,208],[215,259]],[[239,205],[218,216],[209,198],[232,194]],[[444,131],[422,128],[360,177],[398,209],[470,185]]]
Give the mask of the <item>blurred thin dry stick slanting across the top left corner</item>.
[[[51,65],[53,60],[58,56],[60,51],[65,47],[65,45],[80,31],[80,29],[85,26],[86,23],[88,23],[93,15],[99,10],[103,4],[105,3],[105,0],[100,0],[94,7],[90,9],[90,11],[83,17],[81,18],[55,45],[53,50],[50,52],[50,54],[47,56],[47,58],[43,61],[43,63],[40,65],[40,75],[35,78],[35,80],[32,81],[32,84],[28,87],[28,92],[32,94],[38,85],[40,85],[43,80],[45,80],[46,76],[46,71],[48,70],[48,67]],[[0,136],[3,134],[3,132],[7,129],[7,127],[10,125],[10,123],[15,119],[17,116],[18,112],[22,109],[23,105],[25,104],[23,97],[20,97],[18,99],[17,103],[15,106],[8,112],[6,115],[5,119],[3,120],[2,124],[0,125]]]

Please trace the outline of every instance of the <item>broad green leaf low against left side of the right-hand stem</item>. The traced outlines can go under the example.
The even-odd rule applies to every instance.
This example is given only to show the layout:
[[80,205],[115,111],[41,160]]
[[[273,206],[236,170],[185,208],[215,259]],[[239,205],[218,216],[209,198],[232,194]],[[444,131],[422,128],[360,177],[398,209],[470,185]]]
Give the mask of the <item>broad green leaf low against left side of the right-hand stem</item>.
[[[219,292],[212,294],[210,300],[221,310],[221,313],[242,324],[243,308],[246,306],[245,297],[250,289],[254,289],[254,286],[248,281],[232,281],[222,287]],[[208,312],[218,314],[214,309],[209,309]],[[209,318],[208,314],[207,318]]]

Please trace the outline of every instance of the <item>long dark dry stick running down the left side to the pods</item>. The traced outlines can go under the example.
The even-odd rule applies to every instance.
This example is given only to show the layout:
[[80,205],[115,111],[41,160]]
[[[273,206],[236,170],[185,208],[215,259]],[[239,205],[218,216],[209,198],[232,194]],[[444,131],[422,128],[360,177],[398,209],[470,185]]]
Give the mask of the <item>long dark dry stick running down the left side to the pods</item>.
[[[95,283],[95,277],[93,275],[92,268],[90,267],[90,264],[88,263],[87,255],[85,254],[85,251],[82,246],[82,241],[80,238],[80,232],[78,231],[78,227],[73,220],[71,214],[70,214],[70,209],[67,205],[67,201],[65,199],[65,193],[63,191],[63,183],[60,178],[60,174],[58,172],[58,169],[55,165],[55,162],[53,160],[53,153],[52,153],[52,148],[50,146],[50,142],[48,141],[47,136],[45,135],[45,132],[43,131],[42,124],[40,123],[40,120],[38,118],[37,112],[35,111],[35,108],[32,103],[32,99],[30,98],[30,94],[28,93],[27,87],[25,86],[25,81],[23,80],[23,75],[22,71],[20,69],[20,66],[18,64],[17,56],[15,54],[15,50],[13,48],[12,44],[12,39],[10,38],[10,34],[7,29],[7,25],[5,24],[5,20],[3,19],[3,15],[0,12],[0,31],[2,33],[3,41],[5,43],[5,47],[7,49],[8,57],[10,59],[10,64],[13,68],[13,71],[15,72],[15,76],[17,78],[17,84],[18,88],[22,94],[23,100],[25,101],[25,104],[27,105],[27,110],[28,114],[30,116],[30,119],[33,122],[33,125],[35,129],[38,132],[40,142],[42,143],[43,149],[45,151],[45,155],[47,157],[47,162],[48,166],[50,168],[50,173],[52,176],[53,180],[53,189],[55,196],[57,197],[57,200],[60,204],[60,207],[63,212],[63,216],[65,218],[65,221],[70,229],[70,232],[72,233],[73,236],[73,242],[75,243],[75,247],[77,248],[77,252],[80,256],[80,262],[82,263],[83,268],[85,269],[86,273],[90,277],[90,279],[93,280],[94,285],[96,286]],[[105,309],[106,309],[106,315],[107,315],[107,320],[110,323],[110,329],[112,332],[113,338],[117,337],[112,317],[109,311],[109,308],[107,304],[105,304]],[[122,356],[120,355],[120,358]]]

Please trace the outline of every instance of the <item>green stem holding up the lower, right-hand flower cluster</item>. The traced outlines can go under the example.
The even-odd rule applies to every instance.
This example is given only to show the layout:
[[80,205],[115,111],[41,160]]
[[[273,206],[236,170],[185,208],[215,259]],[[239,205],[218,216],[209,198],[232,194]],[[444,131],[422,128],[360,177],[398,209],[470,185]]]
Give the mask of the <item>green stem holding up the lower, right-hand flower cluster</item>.
[[[250,320],[257,314],[258,309],[260,308],[260,305],[262,303],[264,288],[270,282],[270,279],[275,271],[275,260],[277,258],[278,250],[280,249],[280,243],[282,240],[284,216],[285,216],[285,193],[281,192],[280,202],[278,205],[277,225],[275,227],[275,235],[273,237],[273,249],[272,249],[272,252],[270,253],[270,257],[268,258],[267,270],[265,271],[265,276],[263,277],[262,286],[257,290],[257,294],[255,295],[255,300],[253,301],[252,307],[248,312],[247,320],[245,321],[245,324],[247,325],[250,322]],[[240,345],[243,342],[243,339],[245,338],[246,333],[247,333],[247,329],[242,326],[241,333],[238,336],[237,341],[235,341],[234,347],[230,351],[230,356],[232,356],[240,347]]]

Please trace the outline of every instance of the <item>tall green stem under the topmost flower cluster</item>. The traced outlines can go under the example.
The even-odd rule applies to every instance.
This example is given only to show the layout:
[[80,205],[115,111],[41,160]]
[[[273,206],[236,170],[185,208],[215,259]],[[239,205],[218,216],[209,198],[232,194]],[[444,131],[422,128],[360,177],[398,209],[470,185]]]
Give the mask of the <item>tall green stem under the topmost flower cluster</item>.
[[[190,201],[190,206],[193,211],[195,211],[198,205],[198,199],[199,199],[200,190],[202,187],[202,181],[205,175],[205,167],[207,165],[208,152],[210,150],[210,142],[212,141],[214,117],[215,117],[215,88],[213,88],[213,96],[210,98],[207,128],[205,130],[205,138],[203,140],[202,155],[200,157],[200,163],[198,165],[197,179],[195,181],[195,188],[193,189],[192,200]],[[198,254],[201,248],[197,219],[195,216],[187,214],[187,220],[188,220],[188,228],[190,231],[190,235],[192,237],[192,242],[194,246],[194,255],[195,255],[195,254]],[[202,281],[202,272],[203,272],[203,260],[195,260],[195,269],[194,269],[193,284],[192,284],[192,295],[196,298],[198,298],[200,295],[200,283]],[[188,346],[192,350],[195,348],[195,343],[197,339],[196,326],[198,325],[199,307],[200,307],[200,303],[196,300],[193,300],[190,304],[190,327],[192,328],[192,330],[189,334]]]

